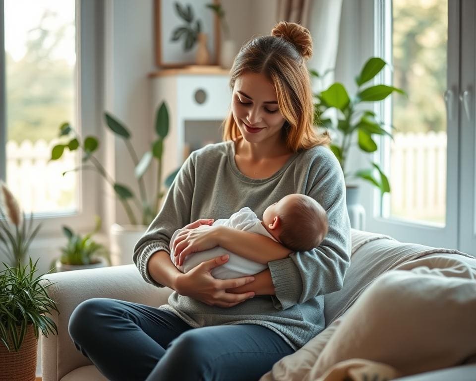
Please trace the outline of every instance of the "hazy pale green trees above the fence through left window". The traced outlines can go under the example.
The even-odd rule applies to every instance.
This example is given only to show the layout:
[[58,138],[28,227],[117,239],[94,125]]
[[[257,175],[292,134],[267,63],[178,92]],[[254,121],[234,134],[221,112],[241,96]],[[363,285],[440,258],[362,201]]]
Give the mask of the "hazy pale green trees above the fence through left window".
[[48,30],[55,14],[45,12],[39,25],[28,32],[26,53],[14,62],[6,53],[7,140],[51,141],[60,121],[73,117],[74,66],[51,59],[67,29]]

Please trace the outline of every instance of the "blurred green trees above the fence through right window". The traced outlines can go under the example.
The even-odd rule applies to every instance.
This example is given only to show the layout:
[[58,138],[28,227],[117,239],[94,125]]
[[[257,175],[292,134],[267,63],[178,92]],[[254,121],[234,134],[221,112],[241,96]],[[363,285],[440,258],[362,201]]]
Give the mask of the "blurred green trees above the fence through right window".
[[447,0],[393,1],[393,99],[398,132],[446,130]]

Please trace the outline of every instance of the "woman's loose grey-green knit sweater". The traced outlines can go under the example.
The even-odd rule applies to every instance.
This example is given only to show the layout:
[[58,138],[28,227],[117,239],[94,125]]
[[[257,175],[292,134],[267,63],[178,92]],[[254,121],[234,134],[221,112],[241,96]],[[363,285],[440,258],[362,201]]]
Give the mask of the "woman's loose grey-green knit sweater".
[[143,278],[159,287],[147,271],[152,254],[170,254],[172,234],[199,218],[229,218],[244,206],[262,218],[268,205],[290,193],[315,198],[327,211],[329,232],[310,252],[269,262],[275,296],[256,296],[232,308],[208,306],[177,292],[161,308],[193,327],[251,323],[278,333],[294,349],[325,327],[323,295],[342,287],[350,263],[351,228],[344,177],[334,154],[317,146],[294,154],[267,179],[244,176],[235,162],[235,144],[227,141],[192,152],[170,188],[162,210],[134,249]]

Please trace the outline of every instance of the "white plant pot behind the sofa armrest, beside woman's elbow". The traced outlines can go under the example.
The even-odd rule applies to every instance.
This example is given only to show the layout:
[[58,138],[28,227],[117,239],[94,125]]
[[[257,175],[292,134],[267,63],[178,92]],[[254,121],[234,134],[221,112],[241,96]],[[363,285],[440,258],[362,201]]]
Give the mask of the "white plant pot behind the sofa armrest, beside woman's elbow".
[[132,263],[134,246],[147,230],[146,225],[111,226],[111,262],[113,266]]

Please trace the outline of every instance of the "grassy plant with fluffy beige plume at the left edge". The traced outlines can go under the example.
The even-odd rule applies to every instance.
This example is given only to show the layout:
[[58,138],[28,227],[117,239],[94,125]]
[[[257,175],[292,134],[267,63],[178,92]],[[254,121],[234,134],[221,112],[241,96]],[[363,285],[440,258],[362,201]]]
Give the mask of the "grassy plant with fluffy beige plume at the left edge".
[[4,254],[11,266],[24,264],[31,242],[41,224],[33,228],[33,213],[27,222],[15,197],[0,181],[0,253]]

